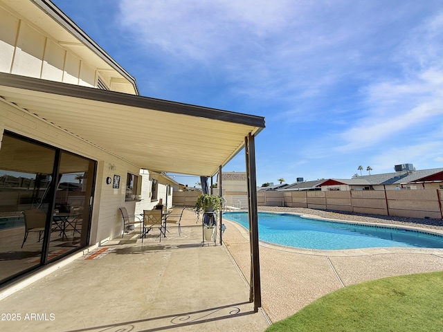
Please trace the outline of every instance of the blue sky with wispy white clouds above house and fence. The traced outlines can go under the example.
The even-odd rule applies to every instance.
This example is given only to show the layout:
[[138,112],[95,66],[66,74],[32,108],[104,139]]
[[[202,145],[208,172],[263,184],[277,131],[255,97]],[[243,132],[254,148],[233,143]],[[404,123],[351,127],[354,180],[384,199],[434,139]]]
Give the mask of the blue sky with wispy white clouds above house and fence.
[[441,1],[53,2],[141,95],[264,116],[257,185],[443,167]]

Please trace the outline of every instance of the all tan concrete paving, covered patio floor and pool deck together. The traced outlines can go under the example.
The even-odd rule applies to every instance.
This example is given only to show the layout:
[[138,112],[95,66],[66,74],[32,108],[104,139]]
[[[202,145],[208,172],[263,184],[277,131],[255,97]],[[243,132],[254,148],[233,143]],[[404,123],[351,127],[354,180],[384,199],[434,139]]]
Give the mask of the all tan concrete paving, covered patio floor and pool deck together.
[[[260,243],[263,315],[248,302],[248,232],[224,219],[225,246],[203,247],[195,214],[183,216],[181,237],[170,228],[161,243],[142,244],[136,232],[125,234],[98,248],[110,249],[102,257],[75,259],[1,300],[1,313],[21,313],[22,320],[0,322],[0,331],[264,331],[266,317],[277,322],[344,286],[443,270],[442,249],[326,251]],[[47,320],[24,321],[26,313],[45,313]]]

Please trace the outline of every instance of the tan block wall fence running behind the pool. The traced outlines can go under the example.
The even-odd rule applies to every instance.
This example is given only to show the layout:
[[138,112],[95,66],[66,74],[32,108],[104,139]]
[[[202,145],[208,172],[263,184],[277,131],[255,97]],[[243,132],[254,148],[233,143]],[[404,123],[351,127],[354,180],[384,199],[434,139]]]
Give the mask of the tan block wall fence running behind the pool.
[[[174,192],[173,203],[193,206],[199,194]],[[257,205],[443,219],[443,190],[259,191]]]

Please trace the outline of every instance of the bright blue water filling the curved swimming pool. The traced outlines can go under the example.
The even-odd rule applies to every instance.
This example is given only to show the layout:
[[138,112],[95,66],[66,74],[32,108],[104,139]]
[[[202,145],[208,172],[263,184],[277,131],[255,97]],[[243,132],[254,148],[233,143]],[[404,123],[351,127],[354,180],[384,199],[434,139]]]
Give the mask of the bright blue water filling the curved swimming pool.
[[[248,228],[247,212],[224,212],[224,218]],[[375,247],[443,248],[443,236],[415,230],[356,225],[258,212],[262,241],[297,248],[339,250]]]

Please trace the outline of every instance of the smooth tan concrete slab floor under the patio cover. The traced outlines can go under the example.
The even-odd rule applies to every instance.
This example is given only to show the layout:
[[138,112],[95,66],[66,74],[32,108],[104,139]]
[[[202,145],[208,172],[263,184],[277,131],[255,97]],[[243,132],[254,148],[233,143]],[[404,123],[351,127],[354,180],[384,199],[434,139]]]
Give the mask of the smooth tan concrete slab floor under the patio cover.
[[127,234],[6,297],[0,313],[20,320],[0,331],[264,331],[226,247],[203,247],[186,212],[181,237]]

